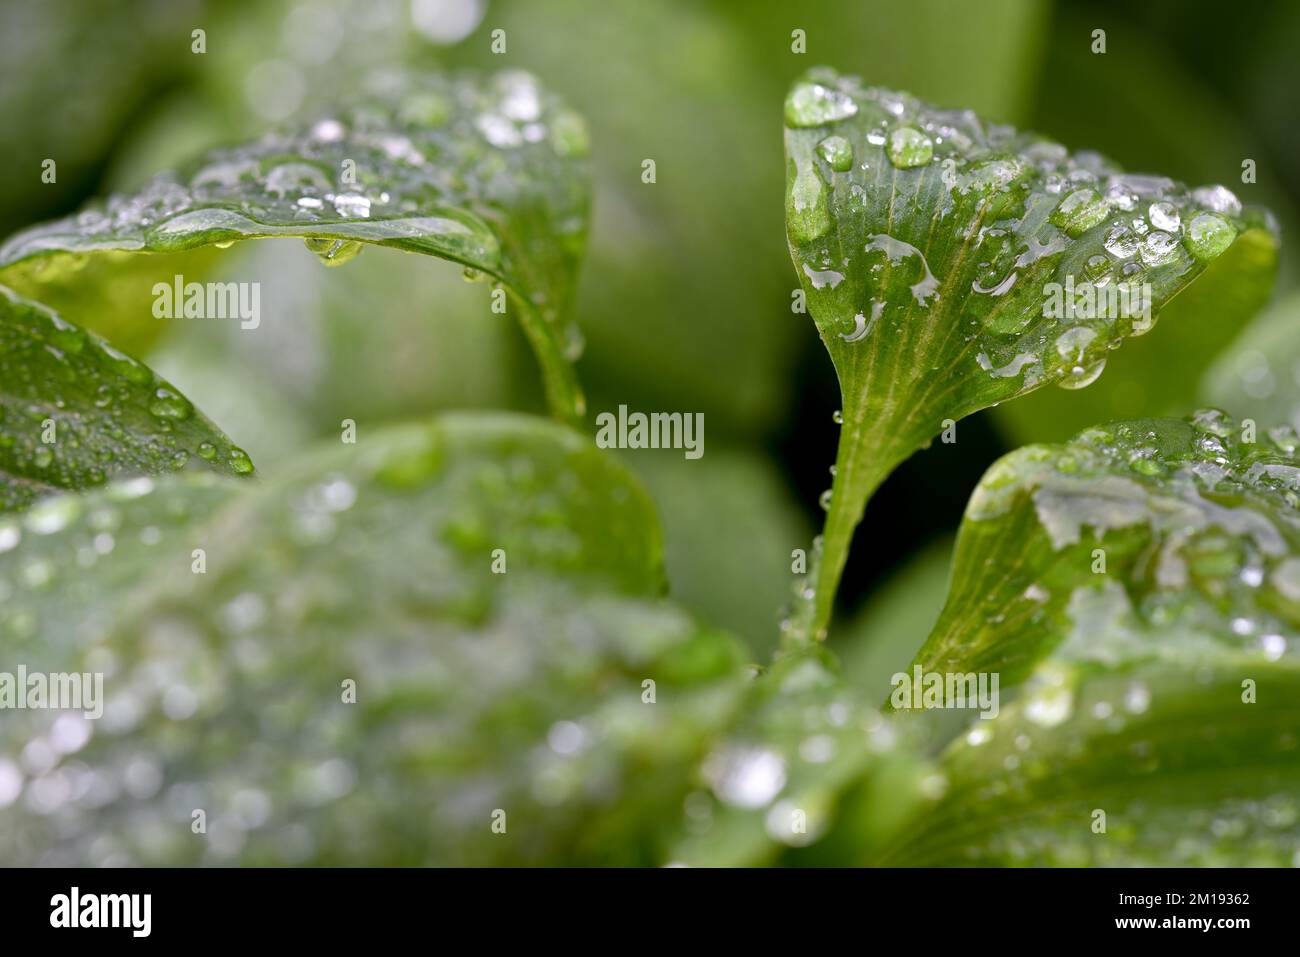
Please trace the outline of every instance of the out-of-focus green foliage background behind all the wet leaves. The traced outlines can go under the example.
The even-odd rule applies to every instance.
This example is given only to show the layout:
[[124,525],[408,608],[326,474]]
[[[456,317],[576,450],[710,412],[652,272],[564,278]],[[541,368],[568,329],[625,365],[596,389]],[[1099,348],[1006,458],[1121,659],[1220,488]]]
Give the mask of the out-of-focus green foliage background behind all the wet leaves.
[[[1266,313],[1258,300],[1210,299],[1200,311],[1186,303],[1179,347],[1169,345],[1179,341],[1175,303],[1095,386],[978,413],[956,445],[920,452],[885,482],[857,534],[829,638],[848,687],[904,667],[924,641],[962,508],[1002,452],[1095,421],[1183,413],[1204,402],[1300,425],[1300,373],[1290,359],[1300,350],[1287,351],[1300,322],[1287,296],[1297,276],[1290,228],[1300,220],[1292,4],[1225,17],[1210,3],[874,0],[796,9],[776,0],[489,0],[454,43],[421,30],[421,7],[434,5],[6,4],[0,230],[73,212],[202,150],[251,138],[329,103],[377,62],[534,72],[586,117],[593,139],[594,217],[575,312],[586,337],[578,374],[588,407],[705,413],[701,460],[660,451],[627,455],[624,464],[659,512],[670,594],[740,636],[745,648],[728,646],[724,658],[767,661],[789,599],[790,549],[806,546],[822,520],[816,501],[828,485],[838,407],[814,325],[790,311],[797,282],[779,143],[780,103],[797,75],[835,64],[872,85],[1100,150],[1128,169],[1225,182],[1270,207],[1284,241]],[[195,26],[207,31],[204,55],[190,52]],[[489,52],[497,27],[507,31],[504,56]],[[790,52],[796,27],[807,34],[806,56]],[[1108,34],[1104,56],[1089,52],[1098,27]],[[46,157],[58,161],[55,185],[39,182]],[[641,182],[646,157],[656,163],[654,185]],[[1258,183],[1240,186],[1247,157]],[[488,287],[464,282],[459,267],[370,248],[325,270],[286,239],[243,243],[194,268],[260,280],[273,347],[230,324],[161,326],[147,309],[134,320],[121,319],[122,309],[75,319],[181,385],[263,471],[334,436],[343,417],[378,428],[448,410],[543,411],[521,333],[489,312]],[[66,302],[79,294],[74,283]],[[879,703],[885,690],[861,701]],[[836,688],[807,693],[829,700]],[[898,765],[880,759],[879,781],[906,781],[900,793],[915,798],[924,774]],[[898,807],[910,813],[909,800]],[[628,846],[638,840],[628,837]],[[346,858],[346,836],[337,848]]]

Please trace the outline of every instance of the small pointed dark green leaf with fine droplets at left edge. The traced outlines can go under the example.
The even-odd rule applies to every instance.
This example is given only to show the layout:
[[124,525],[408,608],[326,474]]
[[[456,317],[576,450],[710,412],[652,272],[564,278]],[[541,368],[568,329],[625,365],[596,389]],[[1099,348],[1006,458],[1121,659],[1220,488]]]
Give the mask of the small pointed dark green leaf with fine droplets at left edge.
[[252,462],[173,385],[0,286],[0,511],[113,476]]

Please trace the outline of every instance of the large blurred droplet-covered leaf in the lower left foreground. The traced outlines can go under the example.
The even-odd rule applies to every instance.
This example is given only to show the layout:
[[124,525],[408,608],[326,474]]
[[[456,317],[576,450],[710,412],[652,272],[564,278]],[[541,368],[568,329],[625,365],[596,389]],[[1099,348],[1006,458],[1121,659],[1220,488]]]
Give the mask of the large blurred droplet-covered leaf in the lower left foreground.
[[659,598],[645,493],[543,420],[39,508],[0,533],[6,667],[104,672],[107,705],[6,713],[12,863],[659,863],[744,690]]

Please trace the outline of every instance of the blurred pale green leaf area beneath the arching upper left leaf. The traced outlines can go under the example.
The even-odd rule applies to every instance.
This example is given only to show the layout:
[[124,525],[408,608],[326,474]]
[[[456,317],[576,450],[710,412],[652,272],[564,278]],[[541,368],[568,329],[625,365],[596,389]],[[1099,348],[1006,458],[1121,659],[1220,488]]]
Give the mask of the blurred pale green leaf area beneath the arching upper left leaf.
[[338,436],[343,420],[364,434],[432,411],[542,408],[521,333],[451,264],[376,250],[322,270],[299,243],[272,239],[231,250],[213,278],[259,282],[266,320],[177,324],[150,360],[259,468]]

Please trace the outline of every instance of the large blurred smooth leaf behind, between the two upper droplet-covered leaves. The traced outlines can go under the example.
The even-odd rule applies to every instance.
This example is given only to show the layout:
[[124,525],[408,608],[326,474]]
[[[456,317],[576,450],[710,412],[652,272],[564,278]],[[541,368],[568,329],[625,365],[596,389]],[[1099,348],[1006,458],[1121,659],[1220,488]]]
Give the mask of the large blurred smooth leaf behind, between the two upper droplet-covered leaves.
[[[1046,12],[1037,0],[870,0],[797,13],[774,0],[493,0],[477,31],[437,56],[499,62],[489,33],[502,29],[506,57],[562,90],[595,131],[578,295],[589,391],[610,404],[701,411],[711,434],[737,438],[789,420],[805,348],[815,347],[790,312],[781,209],[755,199],[781,189],[780,157],[746,146],[771,135],[774,103],[814,57],[1017,120]],[[806,55],[792,49],[796,27]],[[980,57],[962,55],[972,46]],[[656,163],[653,185],[641,181],[646,159]]]

